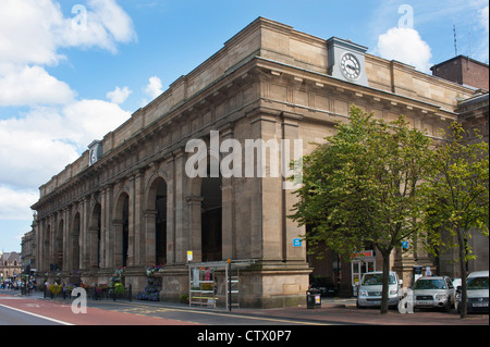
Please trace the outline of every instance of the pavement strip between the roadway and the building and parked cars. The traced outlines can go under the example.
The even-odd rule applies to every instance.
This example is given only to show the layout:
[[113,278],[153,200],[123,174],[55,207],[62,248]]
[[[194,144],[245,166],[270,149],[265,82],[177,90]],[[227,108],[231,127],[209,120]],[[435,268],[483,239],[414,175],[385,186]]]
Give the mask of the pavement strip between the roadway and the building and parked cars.
[[[0,290],[1,292],[1,290]],[[7,292],[7,290],[4,290]],[[9,290],[10,294],[15,292]],[[19,290],[15,295],[20,296]],[[25,297],[25,296],[24,296]],[[25,297],[29,298],[29,297]],[[42,293],[36,292],[30,295],[32,299],[44,299]],[[51,300],[51,299],[44,299]],[[90,305],[89,300],[89,305]],[[118,300],[124,302],[123,300]],[[98,301],[94,301],[98,302]],[[127,302],[127,301],[125,301]],[[204,310],[201,308],[189,307],[188,305],[169,303],[169,302],[150,302],[142,300],[133,300],[131,305],[137,305],[150,309],[154,308],[173,308],[179,310]],[[220,312],[223,314],[237,314],[246,317],[274,318],[282,320],[294,320],[315,322],[326,325],[489,325],[488,314],[469,314],[467,319],[461,319],[453,310],[452,312],[440,312],[434,310],[416,311],[415,313],[402,314],[396,310],[391,310],[385,314],[381,314],[379,309],[356,308],[355,298],[322,298],[321,307],[316,309],[307,309],[306,298],[305,305],[289,308],[275,309],[253,309],[253,308],[233,308],[231,312],[224,309],[207,310]]]

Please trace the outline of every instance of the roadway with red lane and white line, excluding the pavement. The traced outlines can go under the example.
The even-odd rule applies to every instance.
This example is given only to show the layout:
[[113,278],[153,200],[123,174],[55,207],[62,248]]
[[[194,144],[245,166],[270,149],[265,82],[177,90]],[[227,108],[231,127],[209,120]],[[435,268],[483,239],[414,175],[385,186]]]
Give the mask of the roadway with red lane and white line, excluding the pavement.
[[299,319],[265,318],[223,311],[193,310],[128,301],[87,301],[86,313],[74,313],[71,300],[50,300],[0,293],[3,325],[323,325]]

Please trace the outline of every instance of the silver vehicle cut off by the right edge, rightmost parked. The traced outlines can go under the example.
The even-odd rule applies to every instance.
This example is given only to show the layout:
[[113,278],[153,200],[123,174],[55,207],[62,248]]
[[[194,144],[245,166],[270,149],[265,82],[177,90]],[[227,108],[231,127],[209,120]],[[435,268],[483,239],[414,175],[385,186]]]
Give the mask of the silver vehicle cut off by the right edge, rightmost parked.
[[[461,287],[458,288],[461,290]],[[488,310],[488,271],[471,272],[466,280],[467,312],[489,312]],[[460,298],[461,301],[461,298]],[[457,312],[461,313],[461,306]]]

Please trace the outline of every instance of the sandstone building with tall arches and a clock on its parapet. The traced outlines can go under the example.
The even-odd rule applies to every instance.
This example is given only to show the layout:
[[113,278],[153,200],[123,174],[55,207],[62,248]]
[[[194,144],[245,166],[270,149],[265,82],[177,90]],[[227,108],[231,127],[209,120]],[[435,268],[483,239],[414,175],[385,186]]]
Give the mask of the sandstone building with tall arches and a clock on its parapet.
[[[284,189],[284,175],[272,174],[287,161],[267,153],[292,158],[297,146],[309,152],[311,141],[348,120],[351,104],[385,120],[405,114],[437,137],[456,120],[458,98],[474,95],[366,50],[262,17],[250,23],[39,188],[33,206],[38,275],[76,271],[95,284],[125,267],[136,293],[145,269],[163,263],[161,298],[177,300],[189,288],[191,251],[192,262],[253,260],[241,271],[242,306],[304,303],[311,268],[297,238],[305,231],[286,218],[295,197]],[[207,156],[196,162],[205,177],[188,175],[193,139],[206,144]],[[246,174],[247,139],[278,144],[265,152],[264,177],[257,148],[254,174]],[[241,153],[235,174],[213,175],[215,159],[223,165],[232,151]],[[403,271],[424,258],[411,257],[395,255],[393,265]],[[350,285],[350,265],[342,263],[342,283]]]

